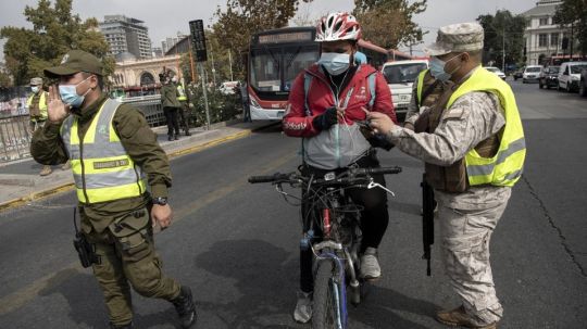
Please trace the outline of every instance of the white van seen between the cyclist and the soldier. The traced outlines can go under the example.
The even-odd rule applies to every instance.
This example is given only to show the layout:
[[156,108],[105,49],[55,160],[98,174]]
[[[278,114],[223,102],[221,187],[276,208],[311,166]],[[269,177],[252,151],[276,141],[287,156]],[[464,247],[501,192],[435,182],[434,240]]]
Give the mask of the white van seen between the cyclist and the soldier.
[[407,113],[412,100],[412,85],[417,75],[428,68],[426,60],[395,61],[385,63],[382,73],[387,80],[396,113]]

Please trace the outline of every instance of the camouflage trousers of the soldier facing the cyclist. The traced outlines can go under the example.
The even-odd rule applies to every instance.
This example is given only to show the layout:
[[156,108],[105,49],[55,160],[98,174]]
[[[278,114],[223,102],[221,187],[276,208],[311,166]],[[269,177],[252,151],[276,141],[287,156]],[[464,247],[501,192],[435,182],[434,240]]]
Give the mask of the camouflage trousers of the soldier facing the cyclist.
[[511,188],[492,189],[479,198],[494,200],[477,200],[475,205],[467,202],[462,207],[449,201],[449,193],[436,195],[442,261],[451,284],[473,321],[478,326],[497,322],[503,308],[496,295],[489,241],[508,205]]

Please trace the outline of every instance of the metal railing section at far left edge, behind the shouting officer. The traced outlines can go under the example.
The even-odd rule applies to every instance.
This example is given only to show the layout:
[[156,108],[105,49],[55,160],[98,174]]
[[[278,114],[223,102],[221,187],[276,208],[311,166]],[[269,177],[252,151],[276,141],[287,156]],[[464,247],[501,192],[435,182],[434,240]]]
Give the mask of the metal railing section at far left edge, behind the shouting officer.
[[0,163],[30,156],[28,115],[14,115],[0,119]]

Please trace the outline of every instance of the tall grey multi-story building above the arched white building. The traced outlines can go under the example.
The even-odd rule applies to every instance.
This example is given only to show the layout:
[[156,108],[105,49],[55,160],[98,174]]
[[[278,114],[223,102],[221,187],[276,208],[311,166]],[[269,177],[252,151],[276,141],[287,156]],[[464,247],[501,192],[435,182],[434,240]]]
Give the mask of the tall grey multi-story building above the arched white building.
[[110,45],[110,54],[129,52],[137,59],[152,56],[149,29],[145,22],[124,15],[105,15],[100,22],[100,31]]

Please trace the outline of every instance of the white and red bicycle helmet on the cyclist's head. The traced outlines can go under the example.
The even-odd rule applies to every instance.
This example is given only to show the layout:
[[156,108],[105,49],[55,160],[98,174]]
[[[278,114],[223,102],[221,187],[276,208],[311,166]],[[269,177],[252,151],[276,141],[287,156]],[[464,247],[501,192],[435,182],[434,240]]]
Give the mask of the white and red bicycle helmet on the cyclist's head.
[[330,13],[320,21],[316,26],[317,42],[361,39],[361,26],[357,18],[349,13]]

